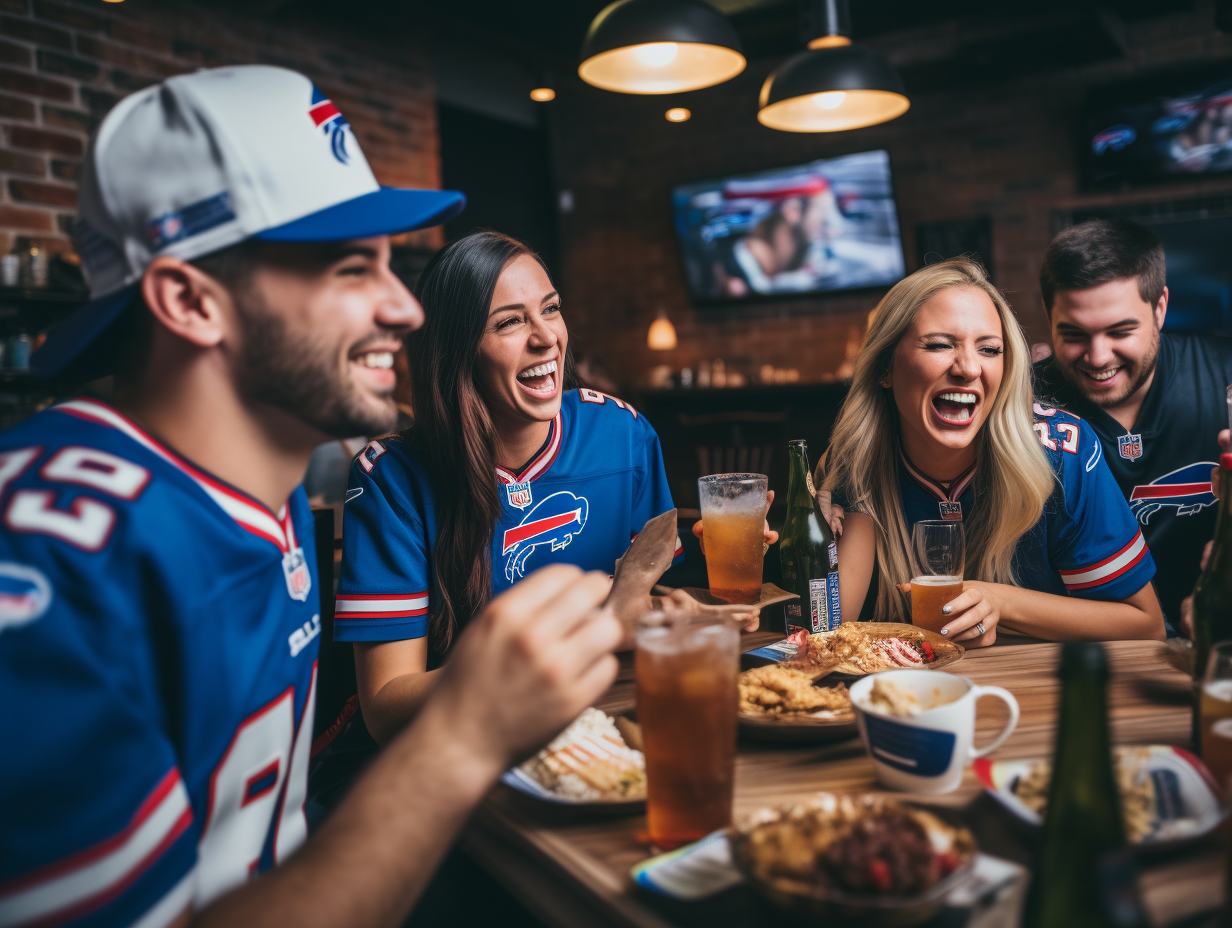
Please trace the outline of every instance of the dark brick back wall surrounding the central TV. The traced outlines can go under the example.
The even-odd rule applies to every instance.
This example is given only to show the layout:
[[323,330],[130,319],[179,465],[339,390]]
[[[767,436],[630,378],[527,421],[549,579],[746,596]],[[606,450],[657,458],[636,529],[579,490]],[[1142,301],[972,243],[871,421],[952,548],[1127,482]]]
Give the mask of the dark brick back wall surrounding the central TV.
[[[1232,191],[1225,177],[1101,197],[1079,192],[1077,134],[1085,88],[1148,68],[1227,59],[1232,41],[1215,30],[1212,15],[1214,5],[1199,4],[1183,16],[1132,25],[1124,63],[917,95],[902,118],[845,133],[774,132],[756,122],[756,94],[777,60],[754,60],[727,84],[679,97],[564,83],[551,117],[557,185],[574,198],[573,212],[562,216],[561,290],[575,346],[625,385],[639,383],[654,364],[696,367],[710,357],[754,371],[761,364],[800,367],[806,378],[834,372],[862,334],[877,295],[695,309],[669,189],[875,148],[890,152],[908,270],[917,266],[917,223],[991,216],[997,282],[1032,340],[1046,339],[1037,272],[1053,211]],[[919,57],[924,41],[896,36],[886,51],[896,60]],[[687,106],[692,120],[667,122],[670,106]],[[646,332],[660,307],[675,323],[679,346],[650,352]]]

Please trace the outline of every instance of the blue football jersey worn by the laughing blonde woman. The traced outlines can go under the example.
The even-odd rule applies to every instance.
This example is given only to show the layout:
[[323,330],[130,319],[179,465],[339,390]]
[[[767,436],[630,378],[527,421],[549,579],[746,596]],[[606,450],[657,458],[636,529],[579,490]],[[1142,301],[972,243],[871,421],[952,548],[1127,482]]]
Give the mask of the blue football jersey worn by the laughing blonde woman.
[[[1039,403],[1035,433],[1057,481],[1014,552],[1019,585],[1083,599],[1133,595],[1151,582],[1154,562],[1095,434],[1082,419]],[[908,531],[926,519],[970,518],[979,505],[973,468],[945,487],[903,456],[898,477]],[[834,500],[849,507],[846,493],[837,492]]]

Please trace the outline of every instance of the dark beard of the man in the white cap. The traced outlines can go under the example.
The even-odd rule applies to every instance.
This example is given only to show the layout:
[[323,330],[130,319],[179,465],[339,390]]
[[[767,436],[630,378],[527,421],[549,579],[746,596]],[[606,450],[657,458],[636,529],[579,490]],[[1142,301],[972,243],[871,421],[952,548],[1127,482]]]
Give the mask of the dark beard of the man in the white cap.
[[239,389],[249,401],[281,409],[331,438],[377,435],[398,420],[393,402],[365,403],[338,370],[336,346],[293,335],[255,293],[237,295],[244,330]]

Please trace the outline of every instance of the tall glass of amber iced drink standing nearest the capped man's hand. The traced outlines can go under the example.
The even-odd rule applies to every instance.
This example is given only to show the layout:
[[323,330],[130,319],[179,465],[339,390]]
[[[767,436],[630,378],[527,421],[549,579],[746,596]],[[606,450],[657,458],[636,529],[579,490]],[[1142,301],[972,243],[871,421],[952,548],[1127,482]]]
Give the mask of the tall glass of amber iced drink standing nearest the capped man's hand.
[[637,720],[650,840],[678,848],[732,823],[739,631],[722,620],[637,632]]

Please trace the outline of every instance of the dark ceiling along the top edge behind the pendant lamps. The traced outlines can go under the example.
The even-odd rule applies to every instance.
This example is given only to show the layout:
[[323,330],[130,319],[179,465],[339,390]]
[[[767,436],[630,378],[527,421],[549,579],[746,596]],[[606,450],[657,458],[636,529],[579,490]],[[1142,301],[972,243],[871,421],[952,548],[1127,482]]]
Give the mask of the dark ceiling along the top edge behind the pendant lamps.
[[[572,71],[590,20],[605,0],[257,0],[345,17],[361,27],[426,30],[450,42],[500,52],[532,69]],[[803,48],[800,0],[711,0],[736,26],[749,58]],[[1198,0],[850,0],[856,42],[941,27],[899,67],[909,92],[992,84],[1126,57],[1126,28],[1193,12]],[[1232,0],[1217,0],[1220,16]],[[1232,18],[1232,17],[1230,17]],[[1221,20],[1222,21],[1222,20]],[[922,32],[924,38],[933,32]]]

